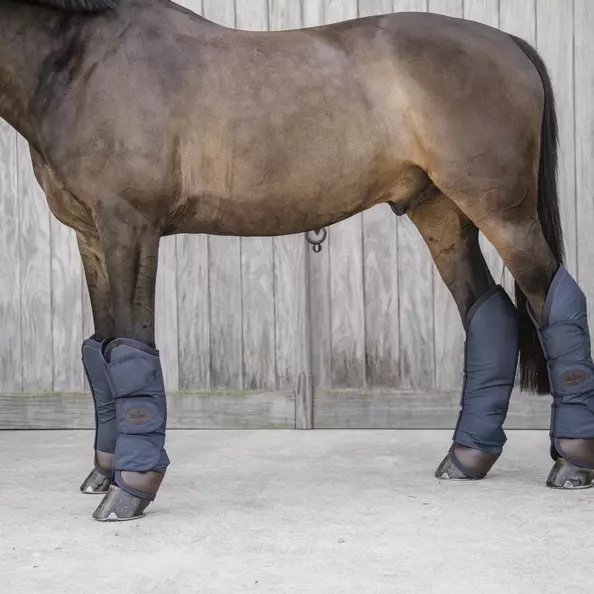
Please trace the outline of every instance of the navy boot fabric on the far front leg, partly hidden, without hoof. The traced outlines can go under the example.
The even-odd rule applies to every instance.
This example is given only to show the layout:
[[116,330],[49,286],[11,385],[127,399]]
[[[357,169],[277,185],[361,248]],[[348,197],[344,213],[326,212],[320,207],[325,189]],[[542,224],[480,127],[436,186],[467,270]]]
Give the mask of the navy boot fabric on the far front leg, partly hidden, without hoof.
[[95,407],[95,449],[113,454],[118,438],[116,407],[100,347],[101,343],[94,338],[85,340],[82,361]]

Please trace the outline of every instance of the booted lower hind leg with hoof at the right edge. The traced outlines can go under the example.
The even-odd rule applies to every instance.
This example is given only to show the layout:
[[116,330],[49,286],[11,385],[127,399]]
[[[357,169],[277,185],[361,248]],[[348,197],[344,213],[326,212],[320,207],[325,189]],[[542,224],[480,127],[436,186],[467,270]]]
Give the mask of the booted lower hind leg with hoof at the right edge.
[[[530,311],[530,309],[529,309]],[[553,403],[547,486],[591,487],[594,480],[594,364],[586,297],[563,266],[549,288],[542,323],[530,311],[547,360]]]

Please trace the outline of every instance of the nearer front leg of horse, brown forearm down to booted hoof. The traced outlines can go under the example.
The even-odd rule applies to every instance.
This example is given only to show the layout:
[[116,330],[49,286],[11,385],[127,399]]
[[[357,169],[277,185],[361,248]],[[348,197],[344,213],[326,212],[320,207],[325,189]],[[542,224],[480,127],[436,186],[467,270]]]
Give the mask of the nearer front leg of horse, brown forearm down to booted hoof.
[[113,484],[93,514],[99,521],[144,515],[169,465],[165,387],[154,342],[160,233],[122,208],[102,213],[99,222],[115,336],[101,343],[100,357],[117,420]]

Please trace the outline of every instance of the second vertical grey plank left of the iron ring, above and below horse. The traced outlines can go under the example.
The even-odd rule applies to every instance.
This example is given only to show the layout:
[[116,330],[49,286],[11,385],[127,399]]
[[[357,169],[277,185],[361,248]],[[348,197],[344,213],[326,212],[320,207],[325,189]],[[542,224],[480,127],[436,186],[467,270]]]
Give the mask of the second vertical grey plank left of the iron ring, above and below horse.
[[[236,18],[239,29],[265,31],[267,0],[239,2]],[[244,388],[273,390],[276,367],[272,239],[241,239],[241,286]]]

